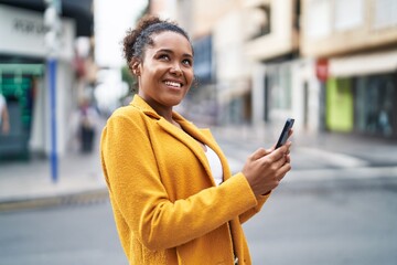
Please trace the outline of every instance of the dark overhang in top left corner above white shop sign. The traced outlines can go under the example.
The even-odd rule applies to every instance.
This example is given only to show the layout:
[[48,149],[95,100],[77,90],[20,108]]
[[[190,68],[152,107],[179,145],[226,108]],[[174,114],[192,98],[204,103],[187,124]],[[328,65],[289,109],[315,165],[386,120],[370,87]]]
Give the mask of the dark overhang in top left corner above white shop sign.
[[[0,3],[44,12],[43,0],[0,0]],[[94,29],[93,0],[62,0],[62,17],[76,21],[77,36],[92,36]]]

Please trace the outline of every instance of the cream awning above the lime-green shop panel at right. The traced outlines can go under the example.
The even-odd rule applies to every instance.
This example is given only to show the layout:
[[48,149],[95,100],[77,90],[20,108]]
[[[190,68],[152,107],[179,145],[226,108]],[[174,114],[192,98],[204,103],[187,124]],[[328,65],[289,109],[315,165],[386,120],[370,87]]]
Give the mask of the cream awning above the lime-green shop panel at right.
[[397,50],[329,60],[329,73],[335,77],[379,74],[396,70]]

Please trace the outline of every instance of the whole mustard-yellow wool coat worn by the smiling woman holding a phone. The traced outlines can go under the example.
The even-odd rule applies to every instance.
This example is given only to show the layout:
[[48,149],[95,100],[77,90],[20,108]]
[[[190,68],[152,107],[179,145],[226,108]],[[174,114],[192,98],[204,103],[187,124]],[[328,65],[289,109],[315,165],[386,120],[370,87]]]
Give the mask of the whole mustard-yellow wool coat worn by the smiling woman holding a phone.
[[[210,130],[176,113],[173,118],[183,130],[136,95],[103,131],[103,170],[129,263],[233,264],[235,252],[239,264],[251,264],[242,223],[268,197],[256,198],[243,173],[232,177]],[[221,186],[215,186],[206,156],[192,137],[218,155]]]

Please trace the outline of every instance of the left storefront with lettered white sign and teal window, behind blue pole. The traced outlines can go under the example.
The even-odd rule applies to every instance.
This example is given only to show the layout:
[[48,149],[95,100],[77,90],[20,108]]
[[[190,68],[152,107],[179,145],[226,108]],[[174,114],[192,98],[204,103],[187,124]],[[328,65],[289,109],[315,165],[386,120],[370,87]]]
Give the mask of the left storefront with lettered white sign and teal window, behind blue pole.
[[[10,128],[0,134],[0,159],[50,152],[50,100],[41,12],[0,4],[0,94],[7,102]],[[75,23],[62,20],[56,71],[58,152],[67,141],[67,116],[74,85]]]

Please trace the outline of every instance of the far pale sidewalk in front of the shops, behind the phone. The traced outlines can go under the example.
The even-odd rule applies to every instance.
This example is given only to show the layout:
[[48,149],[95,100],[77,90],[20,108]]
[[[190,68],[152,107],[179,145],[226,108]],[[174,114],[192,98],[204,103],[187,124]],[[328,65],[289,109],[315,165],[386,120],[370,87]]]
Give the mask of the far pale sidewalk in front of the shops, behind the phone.
[[[216,127],[212,131],[218,139],[239,142],[242,147],[270,148],[278,139],[280,126],[266,127]],[[313,155],[326,152],[345,159],[363,160],[372,166],[397,166],[397,141],[369,139],[361,136],[337,132],[308,134],[294,131],[292,151],[307,151]]]

